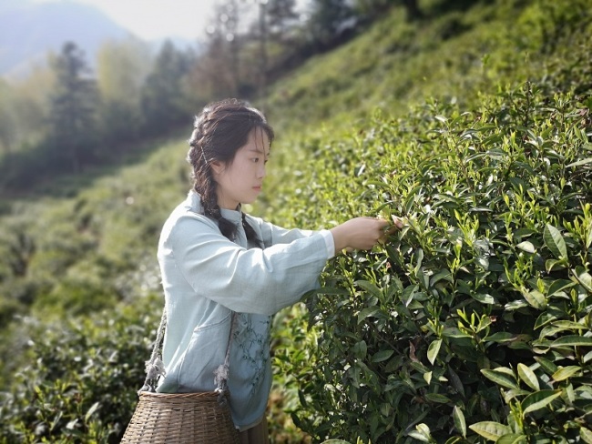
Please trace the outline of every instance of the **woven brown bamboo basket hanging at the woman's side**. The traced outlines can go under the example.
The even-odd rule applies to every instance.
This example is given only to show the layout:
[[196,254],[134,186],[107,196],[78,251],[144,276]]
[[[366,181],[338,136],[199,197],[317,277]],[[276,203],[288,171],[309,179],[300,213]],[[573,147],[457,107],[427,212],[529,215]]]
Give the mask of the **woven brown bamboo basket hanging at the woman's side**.
[[139,394],[138,406],[129,421],[122,443],[234,444],[234,428],[228,402],[219,404],[219,393]]

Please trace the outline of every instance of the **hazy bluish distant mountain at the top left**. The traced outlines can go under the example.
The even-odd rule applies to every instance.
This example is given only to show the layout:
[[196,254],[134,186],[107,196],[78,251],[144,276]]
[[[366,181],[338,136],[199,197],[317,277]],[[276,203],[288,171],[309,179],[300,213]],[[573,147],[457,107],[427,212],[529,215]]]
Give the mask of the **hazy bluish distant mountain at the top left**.
[[82,48],[92,66],[102,43],[127,35],[128,30],[92,5],[0,0],[0,76],[15,76],[34,62],[44,63],[46,54],[59,52],[66,41]]

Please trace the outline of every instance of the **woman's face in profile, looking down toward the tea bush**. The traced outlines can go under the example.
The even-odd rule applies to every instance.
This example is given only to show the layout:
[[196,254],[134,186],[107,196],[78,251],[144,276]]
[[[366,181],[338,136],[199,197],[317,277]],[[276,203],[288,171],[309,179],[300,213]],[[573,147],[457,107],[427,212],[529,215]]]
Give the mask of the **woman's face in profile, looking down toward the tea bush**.
[[216,194],[220,208],[237,209],[239,204],[254,202],[261,192],[265,164],[270,156],[270,139],[260,128],[250,132],[230,163],[213,161]]

